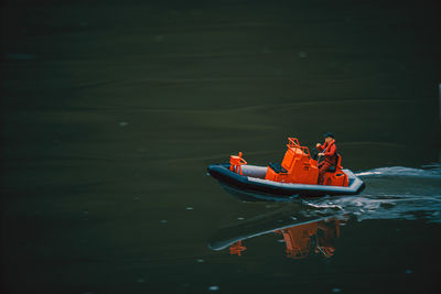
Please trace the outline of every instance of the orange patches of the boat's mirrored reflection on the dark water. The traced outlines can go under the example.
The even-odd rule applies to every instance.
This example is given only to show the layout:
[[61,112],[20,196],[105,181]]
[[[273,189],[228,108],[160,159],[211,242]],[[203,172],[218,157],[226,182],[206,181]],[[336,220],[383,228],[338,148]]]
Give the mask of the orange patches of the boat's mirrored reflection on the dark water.
[[[283,236],[287,247],[287,258],[303,259],[310,254],[321,254],[331,258],[335,252],[335,239],[340,238],[340,219],[326,219],[305,225],[292,226],[275,230],[273,232]],[[241,255],[247,250],[243,240],[229,247],[232,255]]]

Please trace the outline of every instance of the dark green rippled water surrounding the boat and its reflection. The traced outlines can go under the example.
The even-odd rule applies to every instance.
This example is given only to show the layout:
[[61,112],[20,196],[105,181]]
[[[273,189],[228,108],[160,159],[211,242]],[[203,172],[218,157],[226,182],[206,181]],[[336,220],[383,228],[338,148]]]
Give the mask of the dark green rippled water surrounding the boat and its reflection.
[[[2,3],[3,293],[435,292],[440,173],[420,167],[440,154],[439,11]],[[222,226],[290,208],[233,198],[205,175],[209,163],[243,151],[265,165],[288,135],[312,146],[330,130],[345,167],[417,170],[387,167],[341,199],[351,219],[332,259],[287,259],[270,235],[243,257],[207,248]]]

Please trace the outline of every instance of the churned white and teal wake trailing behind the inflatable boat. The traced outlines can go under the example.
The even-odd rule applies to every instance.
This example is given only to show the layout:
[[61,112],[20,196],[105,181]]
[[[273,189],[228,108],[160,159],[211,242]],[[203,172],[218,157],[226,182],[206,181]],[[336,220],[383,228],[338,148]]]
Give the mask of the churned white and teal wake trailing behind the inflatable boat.
[[304,200],[305,214],[345,215],[366,219],[424,219],[441,222],[441,164],[410,168],[380,167],[359,172],[362,195]]

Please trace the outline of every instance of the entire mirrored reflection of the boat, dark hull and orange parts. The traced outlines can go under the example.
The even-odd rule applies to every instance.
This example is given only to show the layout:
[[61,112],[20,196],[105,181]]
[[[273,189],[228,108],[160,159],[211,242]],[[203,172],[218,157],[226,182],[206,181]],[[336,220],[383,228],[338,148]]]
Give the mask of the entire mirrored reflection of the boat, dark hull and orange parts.
[[347,218],[343,215],[323,217],[305,215],[308,214],[304,214],[304,207],[289,206],[289,208],[256,216],[220,228],[209,241],[208,247],[212,250],[228,248],[232,255],[240,257],[247,250],[246,239],[272,233],[283,238],[280,241],[284,242],[288,258],[303,259],[313,254],[333,257],[335,240],[341,235],[341,225]]

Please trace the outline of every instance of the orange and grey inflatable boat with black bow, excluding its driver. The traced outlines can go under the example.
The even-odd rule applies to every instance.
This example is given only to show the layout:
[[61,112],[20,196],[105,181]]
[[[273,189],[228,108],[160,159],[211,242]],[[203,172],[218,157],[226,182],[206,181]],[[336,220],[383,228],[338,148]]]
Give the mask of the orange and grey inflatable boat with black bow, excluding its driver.
[[207,171],[223,188],[243,200],[290,202],[299,197],[321,197],[359,194],[365,184],[352,171],[343,168],[342,156],[324,174],[319,185],[319,160],[311,156],[297,138],[288,138],[281,164],[249,165],[241,152],[229,163],[212,164]]

